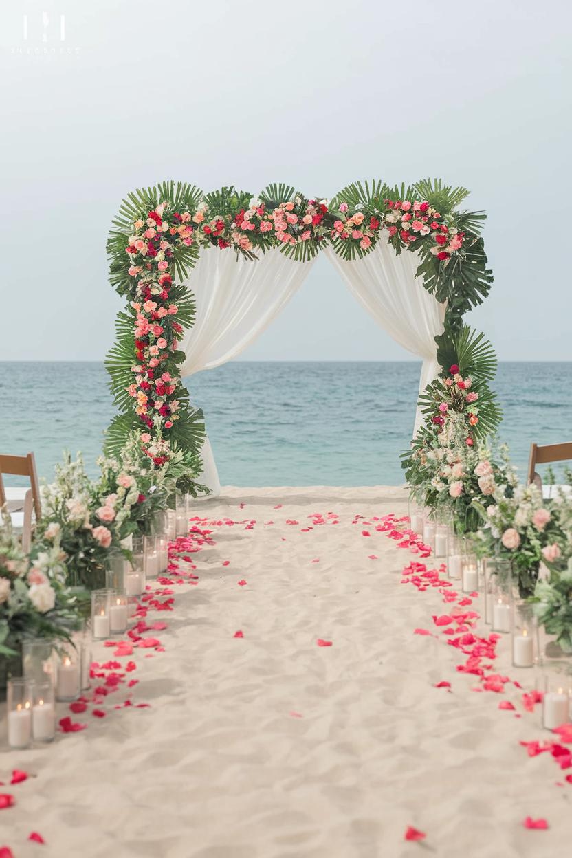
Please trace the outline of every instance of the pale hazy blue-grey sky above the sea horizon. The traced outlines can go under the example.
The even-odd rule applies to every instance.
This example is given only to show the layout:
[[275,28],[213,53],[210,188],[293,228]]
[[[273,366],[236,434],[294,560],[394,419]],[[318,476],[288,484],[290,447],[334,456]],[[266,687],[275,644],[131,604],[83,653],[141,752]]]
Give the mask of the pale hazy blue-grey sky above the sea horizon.
[[[568,0],[26,0],[0,14],[0,360],[103,360],[123,303],[105,239],[129,190],[283,181],[334,196],[427,176],[488,213],[495,283],[468,321],[501,360],[572,360]],[[242,357],[412,359],[325,258]]]

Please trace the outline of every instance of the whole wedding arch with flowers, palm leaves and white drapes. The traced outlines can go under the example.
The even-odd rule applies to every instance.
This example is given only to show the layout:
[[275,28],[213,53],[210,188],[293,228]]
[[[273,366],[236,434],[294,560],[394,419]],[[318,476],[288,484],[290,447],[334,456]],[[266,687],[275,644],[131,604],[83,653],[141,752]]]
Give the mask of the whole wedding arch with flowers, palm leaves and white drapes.
[[370,315],[423,360],[414,436],[438,429],[432,385],[441,370],[463,364],[476,367],[479,384],[467,443],[490,432],[500,419],[488,386],[496,359],[462,317],[488,295],[492,273],[480,236],[485,214],[459,208],[467,195],[431,179],[350,184],[330,201],[286,184],[258,196],[234,187],[203,194],[172,181],[130,193],[107,243],[111,284],[128,304],[106,360],[120,409],[106,449],[138,431],[158,464],[172,445],[194,456],[197,470],[200,454],[196,475],[218,493],[202,411],[182,378],[244,351],[321,251]]

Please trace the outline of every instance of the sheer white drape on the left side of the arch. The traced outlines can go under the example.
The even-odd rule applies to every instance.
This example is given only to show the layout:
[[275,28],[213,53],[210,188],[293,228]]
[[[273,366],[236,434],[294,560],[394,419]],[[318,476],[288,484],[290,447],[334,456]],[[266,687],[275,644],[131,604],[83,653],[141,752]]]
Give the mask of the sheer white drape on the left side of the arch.
[[[230,248],[202,250],[186,284],[196,298],[196,321],[180,344],[183,378],[238,357],[286,306],[313,262],[296,262],[278,249],[257,260],[237,259]],[[208,438],[201,455],[198,482],[216,497],[220,480]]]

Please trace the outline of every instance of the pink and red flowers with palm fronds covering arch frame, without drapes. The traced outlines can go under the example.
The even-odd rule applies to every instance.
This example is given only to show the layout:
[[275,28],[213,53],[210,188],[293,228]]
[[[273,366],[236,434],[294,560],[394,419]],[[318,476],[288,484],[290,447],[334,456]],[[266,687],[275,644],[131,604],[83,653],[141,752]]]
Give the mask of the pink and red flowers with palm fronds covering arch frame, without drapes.
[[[309,263],[326,250],[352,287],[352,263],[382,248],[392,257],[413,252],[409,279],[417,278],[437,301],[441,323],[431,336],[437,363],[422,380],[424,422],[412,448],[422,450],[443,432],[452,412],[463,414],[467,444],[493,431],[501,418],[489,387],[496,357],[484,336],[462,321],[486,298],[493,280],[480,235],[485,214],[461,210],[467,195],[465,188],[431,179],[408,187],[350,184],[330,201],[286,184],[268,185],[258,196],[234,187],[203,194],[174,182],[130,193],[107,243],[111,285],[127,305],[117,316],[117,342],[106,360],[120,411],[106,449],[117,451],[135,433],[157,466],[177,447],[184,451],[189,481],[201,474],[203,415],[190,405],[181,369],[196,322],[193,269],[204,253],[224,254],[227,267],[230,258],[244,268],[271,254]],[[375,289],[376,272],[368,276]],[[414,483],[411,453],[404,467]]]

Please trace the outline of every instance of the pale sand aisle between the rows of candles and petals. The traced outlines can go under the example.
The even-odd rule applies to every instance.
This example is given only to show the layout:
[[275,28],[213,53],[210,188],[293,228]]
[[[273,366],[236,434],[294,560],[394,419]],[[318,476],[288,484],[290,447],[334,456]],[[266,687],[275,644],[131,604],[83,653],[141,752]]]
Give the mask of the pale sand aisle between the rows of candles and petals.
[[[538,714],[499,711],[500,695],[456,672],[453,648],[412,633],[432,628],[441,596],[400,584],[411,555],[352,524],[403,514],[405,493],[223,491],[197,516],[241,524],[210,526],[198,585],[176,588],[159,618],[166,651],[137,658],[137,699],[152,708],[110,701],[105,719],[77,719],[83,733],[4,753],[1,780],[15,767],[38,778],[0,788],[18,801],[0,811],[0,845],[15,858],[568,854],[572,785],[555,786],[566,772],[518,743],[548,738]],[[526,681],[508,649],[499,672]],[[517,690],[503,696],[519,704]],[[529,814],[551,829],[525,830]],[[404,841],[407,825],[423,845]],[[30,831],[48,845],[27,843]]]

